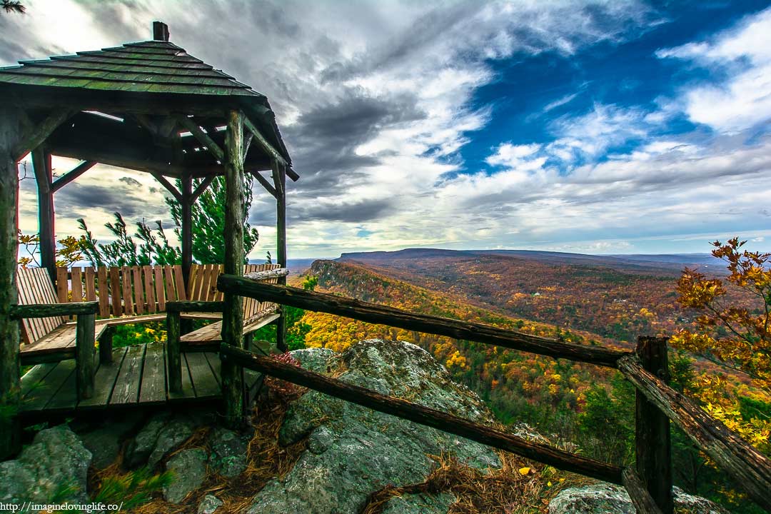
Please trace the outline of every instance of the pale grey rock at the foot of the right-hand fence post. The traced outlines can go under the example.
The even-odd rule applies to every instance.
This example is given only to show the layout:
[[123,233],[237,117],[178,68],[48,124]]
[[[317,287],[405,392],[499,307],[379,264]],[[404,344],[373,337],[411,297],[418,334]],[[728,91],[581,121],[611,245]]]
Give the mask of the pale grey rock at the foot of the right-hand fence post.
[[[708,499],[691,496],[675,487],[675,508],[689,514],[730,514]],[[611,484],[564,489],[549,502],[549,514],[635,514],[628,493]]]

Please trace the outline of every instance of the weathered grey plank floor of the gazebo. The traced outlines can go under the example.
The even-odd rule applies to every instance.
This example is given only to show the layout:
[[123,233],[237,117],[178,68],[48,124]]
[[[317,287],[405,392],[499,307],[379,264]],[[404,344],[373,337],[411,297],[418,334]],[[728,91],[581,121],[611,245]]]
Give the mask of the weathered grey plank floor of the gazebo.
[[[250,388],[261,381],[254,373],[248,373],[245,378]],[[212,352],[183,353],[182,391],[170,393],[163,343],[114,349],[113,362],[100,364],[96,369],[92,398],[76,401],[75,379],[73,359],[36,365],[22,377],[22,414],[221,398],[220,358]]]

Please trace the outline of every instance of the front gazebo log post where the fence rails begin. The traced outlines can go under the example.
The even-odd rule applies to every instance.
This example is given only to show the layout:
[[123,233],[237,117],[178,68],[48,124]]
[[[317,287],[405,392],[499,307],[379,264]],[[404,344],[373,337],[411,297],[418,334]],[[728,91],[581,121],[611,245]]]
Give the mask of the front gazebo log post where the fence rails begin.
[[[225,143],[224,272],[241,277],[244,274],[244,116],[240,111],[227,115]],[[224,294],[222,341],[236,348],[244,348],[242,307],[241,297]],[[225,424],[239,428],[244,418],[244,370],[233,361],[224,361],[221,375]]]

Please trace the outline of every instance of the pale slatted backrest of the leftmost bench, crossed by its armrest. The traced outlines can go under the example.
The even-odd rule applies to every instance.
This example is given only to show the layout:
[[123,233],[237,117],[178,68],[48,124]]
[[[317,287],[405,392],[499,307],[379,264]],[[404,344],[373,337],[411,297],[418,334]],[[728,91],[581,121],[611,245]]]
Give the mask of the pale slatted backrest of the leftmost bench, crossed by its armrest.
[[[56,304],[56,289],[43,267],[20,267],[16,270],[19,304]],[[66,300],[65,300],[66,301]],[[32,344],[64,323],[61,316],[33,317],[22,320],[22,344]]]

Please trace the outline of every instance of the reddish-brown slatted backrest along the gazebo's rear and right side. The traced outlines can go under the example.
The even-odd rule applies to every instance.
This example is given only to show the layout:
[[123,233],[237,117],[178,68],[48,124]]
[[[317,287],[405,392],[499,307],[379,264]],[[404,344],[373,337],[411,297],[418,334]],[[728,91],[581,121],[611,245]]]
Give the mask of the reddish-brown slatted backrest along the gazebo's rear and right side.
[[[244,273],[271,270],[278,264],[246,264]],[[193,264],[187,290],[183,284],[182,267],[124,266],[124,267],[66,267],[57,268],[57,295],[59,301],[99,301],[100,317],[156,314],[166,311],[167,301],[221,301],[217,291],[217,277],[221,264]],[[247,300],[244,319],[267,309],[266,302]]]

